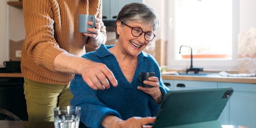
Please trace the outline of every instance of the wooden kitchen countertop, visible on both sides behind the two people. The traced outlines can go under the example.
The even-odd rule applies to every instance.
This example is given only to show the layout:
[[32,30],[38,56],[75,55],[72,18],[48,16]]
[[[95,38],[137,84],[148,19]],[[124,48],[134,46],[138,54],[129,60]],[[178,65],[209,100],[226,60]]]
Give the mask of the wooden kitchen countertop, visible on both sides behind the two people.
[[[223,77],[220,75],[214,76],[191,76],[191,75],[161,75],[162,79],[171,80],[192,80],[192,81],[207,81],[207,82],[234,82],[256,84],[256,77]],[[23,77],[21,73],[0,73],[0,77]]]

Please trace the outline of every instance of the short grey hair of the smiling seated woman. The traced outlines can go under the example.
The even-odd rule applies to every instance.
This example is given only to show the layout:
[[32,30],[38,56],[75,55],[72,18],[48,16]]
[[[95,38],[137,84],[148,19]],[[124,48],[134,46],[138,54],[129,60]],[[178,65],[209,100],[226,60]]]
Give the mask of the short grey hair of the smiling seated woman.
[[159,18],[151,7],[140,2],[126,4],[121,11],[119,11],[115,22],[116,40],[119,38],[119,35],[117,34],[117,21],[128,24],[134,20],[152,26],[153,31],[157,30],[159,27]]

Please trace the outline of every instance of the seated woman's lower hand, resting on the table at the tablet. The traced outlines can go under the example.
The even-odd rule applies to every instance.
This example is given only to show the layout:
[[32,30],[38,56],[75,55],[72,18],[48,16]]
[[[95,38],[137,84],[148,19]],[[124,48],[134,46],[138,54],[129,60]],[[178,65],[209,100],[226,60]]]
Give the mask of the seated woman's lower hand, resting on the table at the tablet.
[[106,116],[102,121],[105,128],[152,128],[148,124],[153,123],[156,117],[131,117],[122,120],[113,115]]

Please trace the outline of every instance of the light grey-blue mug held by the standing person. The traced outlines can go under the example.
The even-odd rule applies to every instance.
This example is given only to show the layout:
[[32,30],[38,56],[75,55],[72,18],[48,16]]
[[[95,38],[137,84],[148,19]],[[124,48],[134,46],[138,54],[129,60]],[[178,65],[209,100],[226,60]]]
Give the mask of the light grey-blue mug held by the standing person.
[[[88,21],[93,21],[93,25],[90,26],[88,24]],[[78,31],[79,31],[79,33],[92,33],[90,31],[87,31],[87,28],[94,28],[95,24],[96,24],[95,15],[84,15],[84,14],[78,15]]]

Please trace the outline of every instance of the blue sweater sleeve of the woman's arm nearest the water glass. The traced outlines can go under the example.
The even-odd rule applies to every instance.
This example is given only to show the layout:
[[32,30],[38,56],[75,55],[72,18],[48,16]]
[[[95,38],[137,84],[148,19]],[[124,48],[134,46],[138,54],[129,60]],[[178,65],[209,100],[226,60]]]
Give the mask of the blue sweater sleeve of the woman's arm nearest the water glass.
[[99,128],[107,115],[120,117],[121,115],[99,101],[97,91],[88,87],[81,75],[75,75],[70,84],[70,91],[74,95],[71,105],[82,108],[80,120],[90,128]]

